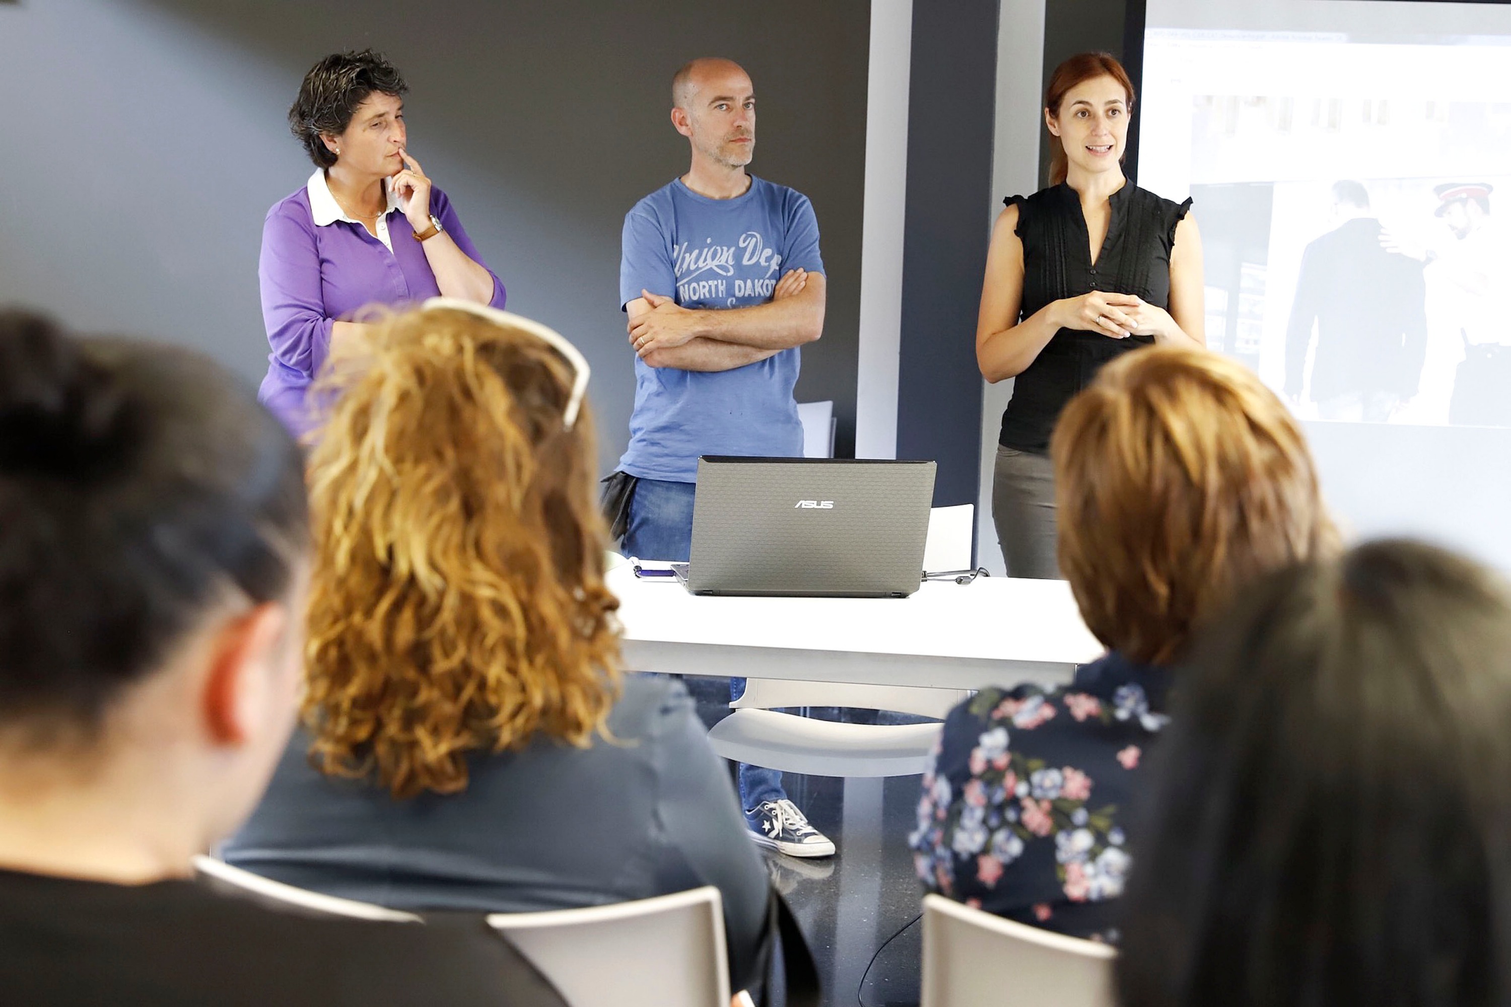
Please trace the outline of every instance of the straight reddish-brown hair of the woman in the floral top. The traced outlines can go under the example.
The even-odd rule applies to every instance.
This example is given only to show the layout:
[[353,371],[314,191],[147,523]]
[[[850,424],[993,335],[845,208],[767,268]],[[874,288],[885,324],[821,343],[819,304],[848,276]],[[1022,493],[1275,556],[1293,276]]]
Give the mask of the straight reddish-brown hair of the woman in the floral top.
[[1059,568],[1133,661],[1170,663],[1234,589],[1336,545],[1301,427],[1218,353],[1124,353],[1065,406],[1050,454]]

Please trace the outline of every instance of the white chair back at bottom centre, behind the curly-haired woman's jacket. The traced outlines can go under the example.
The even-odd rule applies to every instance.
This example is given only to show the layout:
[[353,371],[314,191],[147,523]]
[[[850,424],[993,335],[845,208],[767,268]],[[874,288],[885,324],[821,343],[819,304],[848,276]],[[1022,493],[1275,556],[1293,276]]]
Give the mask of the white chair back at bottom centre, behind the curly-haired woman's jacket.
[[488,922],[571,1007],[727,1007],[719,889],[630,903],[494,913]]

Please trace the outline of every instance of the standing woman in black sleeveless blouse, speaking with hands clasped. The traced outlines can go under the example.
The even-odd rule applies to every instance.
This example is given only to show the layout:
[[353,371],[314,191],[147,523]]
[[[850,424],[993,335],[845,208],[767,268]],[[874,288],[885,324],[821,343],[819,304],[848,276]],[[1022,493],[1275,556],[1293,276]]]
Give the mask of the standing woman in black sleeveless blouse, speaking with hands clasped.
[[1123,175],[1133,85],[1106,53],[1055,69],[1044,101],[1049,189],[997,217],[976,323],[990,382],[1014,377],[991,515],[1009,577],[1059,577],[1049,438],[1059,411],[1114,356],[1206,344],[1201,239],[1182,204]]

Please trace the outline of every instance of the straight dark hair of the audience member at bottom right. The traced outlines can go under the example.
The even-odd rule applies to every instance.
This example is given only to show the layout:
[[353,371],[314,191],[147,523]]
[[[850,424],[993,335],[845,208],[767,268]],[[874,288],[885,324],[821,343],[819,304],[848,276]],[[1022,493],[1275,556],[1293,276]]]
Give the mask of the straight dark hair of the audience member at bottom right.
[[1511,601],[1377,542],[1251,589],[1182,672],[1124,1007],[1502,1004]]

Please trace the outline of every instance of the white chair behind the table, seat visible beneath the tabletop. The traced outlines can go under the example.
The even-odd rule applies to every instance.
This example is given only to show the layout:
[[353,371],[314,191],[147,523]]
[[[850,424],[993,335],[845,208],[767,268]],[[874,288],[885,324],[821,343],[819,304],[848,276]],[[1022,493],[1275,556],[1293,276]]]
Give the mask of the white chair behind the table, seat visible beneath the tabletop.
[[[923,568],[970,566],[975,504],[934,507],[923,547]],[[907,604],[907,602],[899,602]],[[713,725],[709,741],[727,759],[813,776],[913,776],[928,768],[940,725],[869,725],[808,720],[775,713],[781,707],[851,707],[891,710],[943,719],[969,698],[964,688],[923,685],[852,685],[751,678],[730,704],[733,714]]]

